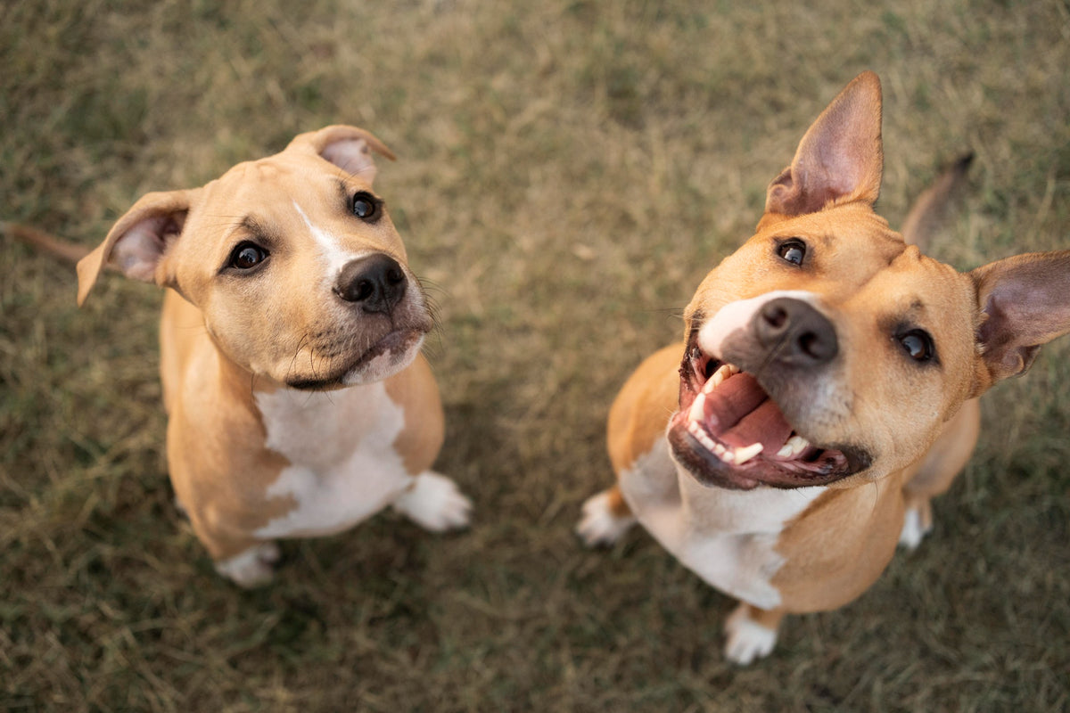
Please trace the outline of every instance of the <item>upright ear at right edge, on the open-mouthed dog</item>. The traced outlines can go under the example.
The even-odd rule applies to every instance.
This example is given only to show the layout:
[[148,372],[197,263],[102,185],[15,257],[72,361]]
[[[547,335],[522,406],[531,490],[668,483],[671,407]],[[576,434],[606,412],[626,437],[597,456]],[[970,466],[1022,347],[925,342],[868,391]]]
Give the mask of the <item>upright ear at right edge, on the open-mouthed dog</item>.
[[1070,332],[1070,250],[1006,258],[969,273],[989,384],[1024,373],[1042,344]]

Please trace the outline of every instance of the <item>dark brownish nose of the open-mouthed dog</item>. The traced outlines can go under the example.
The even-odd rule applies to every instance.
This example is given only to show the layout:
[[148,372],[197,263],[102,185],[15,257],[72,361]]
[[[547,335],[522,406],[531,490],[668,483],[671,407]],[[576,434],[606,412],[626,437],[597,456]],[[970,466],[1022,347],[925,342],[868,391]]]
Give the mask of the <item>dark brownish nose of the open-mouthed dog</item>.
[[831,361],[839,352],[832,323],[801,299],[770,299],[754,320],[758,339],[773,361],[816,367]]

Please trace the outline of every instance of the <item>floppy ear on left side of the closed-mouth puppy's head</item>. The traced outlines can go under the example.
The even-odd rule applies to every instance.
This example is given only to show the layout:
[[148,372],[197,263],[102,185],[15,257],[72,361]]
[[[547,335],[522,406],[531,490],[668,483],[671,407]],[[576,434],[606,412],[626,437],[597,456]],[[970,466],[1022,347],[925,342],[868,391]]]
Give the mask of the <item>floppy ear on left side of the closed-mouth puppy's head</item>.
[[108,231],[92,252],[78,261],[78,306],[105,265],[142,282],[156,281],[156,266],[167,246],[182,233],[194,190],[146,193]]

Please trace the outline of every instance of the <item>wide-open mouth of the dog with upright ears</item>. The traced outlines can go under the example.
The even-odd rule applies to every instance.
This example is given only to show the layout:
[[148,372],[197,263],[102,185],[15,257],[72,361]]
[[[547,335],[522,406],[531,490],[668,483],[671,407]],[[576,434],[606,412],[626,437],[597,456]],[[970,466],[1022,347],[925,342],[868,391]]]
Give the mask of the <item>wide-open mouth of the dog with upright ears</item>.
[[698,330],[679,368],[669,427],[677,462],[699,482],[733,490],[824,485],[869,467],[860,449],[815,444],[793,427],[753,374],[702,352]]

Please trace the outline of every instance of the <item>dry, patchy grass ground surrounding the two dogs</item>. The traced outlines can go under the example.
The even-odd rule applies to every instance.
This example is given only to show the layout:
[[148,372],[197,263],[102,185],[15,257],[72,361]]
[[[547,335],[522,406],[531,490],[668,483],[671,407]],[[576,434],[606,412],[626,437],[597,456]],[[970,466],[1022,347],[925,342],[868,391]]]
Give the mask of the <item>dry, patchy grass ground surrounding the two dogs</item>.
[[616,388],[859,71],[893,222],[972,148],[935,251],[1066,247],[1064,1],[712,4],[4,3],[2,219],[92,245],[140,193],[333,122],[398,153],[379,185],[442,306],[439,467],[478,511],[290,542],[277,585],[228,586],[170,502],[159,294],[111,277],[78,311],[73,270],[0,245],[0,709],[1070,707],[1068,344],[988,398],[932,539],[751,668],[719,651],[730,602],[648,537],[571,534]]

